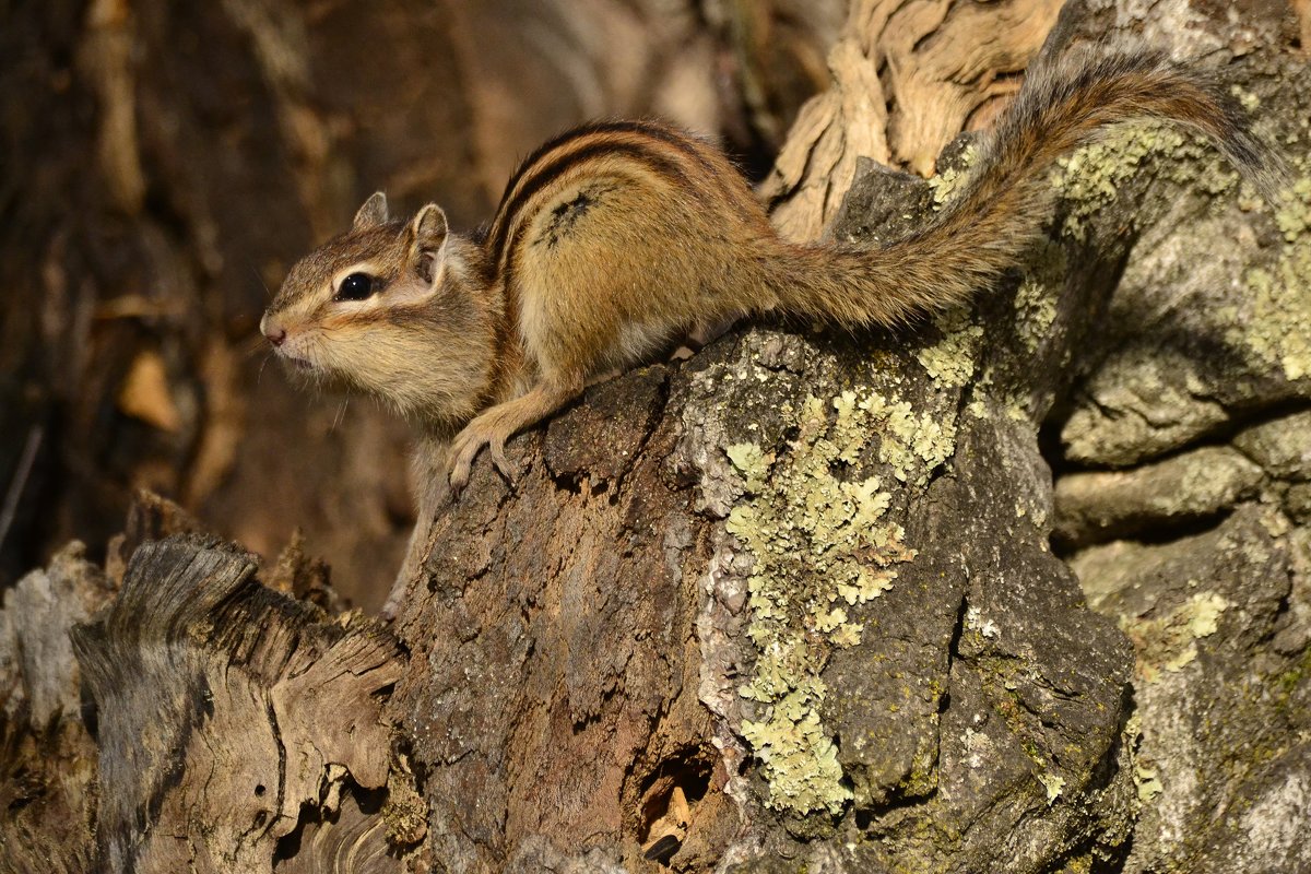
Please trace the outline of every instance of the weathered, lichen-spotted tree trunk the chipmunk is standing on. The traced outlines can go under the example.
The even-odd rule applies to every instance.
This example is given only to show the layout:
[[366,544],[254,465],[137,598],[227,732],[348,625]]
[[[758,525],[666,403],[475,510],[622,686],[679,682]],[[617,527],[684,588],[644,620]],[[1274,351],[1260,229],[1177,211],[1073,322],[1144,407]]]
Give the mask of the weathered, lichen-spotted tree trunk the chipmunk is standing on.
[[[948,69],[931,34],[965,14],[855,4],[839,81],[924,81],[907,46]],[[299,549],[258,571],[142,498],[106,571],[71,549],[5,599],[0,858],[1311,869],[1307,9],[1068,14],[1046,51],[1125,31],[1230,77],[1290,156],[1280,203],[1186,136],[1120,131],[971,311],[743,326],[513,440],[514,484],[476,465],[389,629],[334,616]],[[1027,56],[990,45],[957,126]],[[834,215],[835,168],[842,238],[914,227],[969,169],[968,140],[931,183],[848,161],[848,104],[789,140],[793,233]],[[932,155],[939,127],[903,134]]]

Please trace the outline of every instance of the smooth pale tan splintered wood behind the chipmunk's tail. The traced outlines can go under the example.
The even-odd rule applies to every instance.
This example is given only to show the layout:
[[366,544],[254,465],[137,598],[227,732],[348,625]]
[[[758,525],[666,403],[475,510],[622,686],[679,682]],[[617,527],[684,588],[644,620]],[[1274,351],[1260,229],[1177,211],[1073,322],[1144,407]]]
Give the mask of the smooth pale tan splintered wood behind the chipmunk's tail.
[[860,157],[932,176],[939,152],[986,126],[1055,22],[1059,0],[857,0],[829,54],[832,86],[801,110],[762,185],[773,223],[821,235]]

